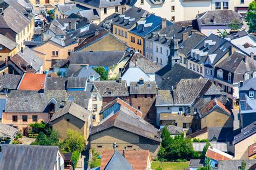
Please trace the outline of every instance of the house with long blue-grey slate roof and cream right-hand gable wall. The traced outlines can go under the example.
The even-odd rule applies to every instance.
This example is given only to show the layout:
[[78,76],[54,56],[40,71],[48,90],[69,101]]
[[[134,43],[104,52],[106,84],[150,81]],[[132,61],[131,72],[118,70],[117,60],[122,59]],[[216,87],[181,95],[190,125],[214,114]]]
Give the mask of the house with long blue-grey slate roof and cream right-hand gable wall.
[[130,56],[128,51],[86,51],[71,52],[69,59],[70,65],[88,65],[92,69],[103,66],[109,73],[109,78],[116,78]]

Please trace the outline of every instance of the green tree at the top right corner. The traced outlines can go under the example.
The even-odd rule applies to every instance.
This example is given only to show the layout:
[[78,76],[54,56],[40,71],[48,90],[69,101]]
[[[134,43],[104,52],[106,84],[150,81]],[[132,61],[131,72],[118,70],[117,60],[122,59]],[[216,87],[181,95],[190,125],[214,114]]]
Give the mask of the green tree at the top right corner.
[[249,26],[249,32],[256,32],[256,1],[249,4],[245,21]]

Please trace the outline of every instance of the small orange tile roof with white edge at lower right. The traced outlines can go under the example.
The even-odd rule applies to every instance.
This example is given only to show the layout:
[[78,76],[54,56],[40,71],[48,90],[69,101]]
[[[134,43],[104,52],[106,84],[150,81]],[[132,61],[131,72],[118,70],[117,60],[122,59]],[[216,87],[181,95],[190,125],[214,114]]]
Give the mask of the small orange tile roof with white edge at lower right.
[[211,158],[213,160],[231,160],[233,157],[225,152],[217,150],[216,148],[209,147],[206,154],[206,157]]

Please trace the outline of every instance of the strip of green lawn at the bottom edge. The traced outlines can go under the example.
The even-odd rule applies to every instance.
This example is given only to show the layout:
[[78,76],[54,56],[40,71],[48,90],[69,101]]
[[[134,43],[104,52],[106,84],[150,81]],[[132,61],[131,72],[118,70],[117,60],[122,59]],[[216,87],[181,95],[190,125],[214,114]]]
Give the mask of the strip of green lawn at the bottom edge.
[[[152,162],[151,168],[156,169],[158,167],[162,169],[172,169],[172,170],[183,170],[188,168],[188,162]],[[164,167],[164,168],[163,168]]]

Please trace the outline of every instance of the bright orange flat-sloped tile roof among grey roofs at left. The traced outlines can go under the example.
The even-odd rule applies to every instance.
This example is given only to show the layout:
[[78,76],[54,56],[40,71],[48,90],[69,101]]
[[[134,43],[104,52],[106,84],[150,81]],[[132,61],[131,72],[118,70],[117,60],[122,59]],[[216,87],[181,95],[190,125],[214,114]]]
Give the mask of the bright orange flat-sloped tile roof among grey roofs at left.
[[46,74],[24,73],[19,83],[18,90],[44,89]]

